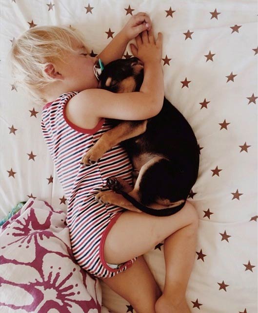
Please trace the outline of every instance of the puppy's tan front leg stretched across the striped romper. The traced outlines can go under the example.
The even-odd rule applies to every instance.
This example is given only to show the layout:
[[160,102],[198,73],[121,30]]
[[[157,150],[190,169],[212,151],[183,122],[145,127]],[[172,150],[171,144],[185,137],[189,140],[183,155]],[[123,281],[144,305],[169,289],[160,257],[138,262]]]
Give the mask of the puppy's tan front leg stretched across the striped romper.
[[90,165],[97,162],[105,152],[129,138],[136,137],[146,131],[147,120],[122,121],[116,127],[104,133],[96,144],[82,157],[81,163]]

